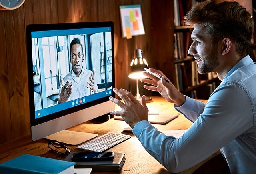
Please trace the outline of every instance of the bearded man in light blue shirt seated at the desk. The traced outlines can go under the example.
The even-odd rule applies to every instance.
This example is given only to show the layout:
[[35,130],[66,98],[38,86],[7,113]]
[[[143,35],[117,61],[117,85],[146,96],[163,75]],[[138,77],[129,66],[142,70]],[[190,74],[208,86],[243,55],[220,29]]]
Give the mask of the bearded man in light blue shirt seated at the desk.
[[184,96],[166,76],[144,72],[144,88],[158,91],[176,110],[194,122],[179,138],[166,136],[147,120],[145,96],[141,104],[124,89],[114,92],[124,100],[110,97],[133,128],[144,148],[170,172],[182,172],[221,150],[230,172],[256,173],[256,64],[248,56],[254,30],[253,18],[237,2],[216,4],[210,0],[192,7],[185,16],[194,25],[188,53],[197,60],[198,72],[217,72],[222,81],[206,104]]

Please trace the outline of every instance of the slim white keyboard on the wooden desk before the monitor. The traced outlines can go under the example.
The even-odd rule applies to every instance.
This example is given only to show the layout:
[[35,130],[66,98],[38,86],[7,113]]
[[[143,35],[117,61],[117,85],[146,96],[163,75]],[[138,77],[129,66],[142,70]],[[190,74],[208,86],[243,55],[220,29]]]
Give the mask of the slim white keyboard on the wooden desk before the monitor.
[[109,132],[78,146],[76,149],[89,152],[103,152],[131,137],[130,135]]

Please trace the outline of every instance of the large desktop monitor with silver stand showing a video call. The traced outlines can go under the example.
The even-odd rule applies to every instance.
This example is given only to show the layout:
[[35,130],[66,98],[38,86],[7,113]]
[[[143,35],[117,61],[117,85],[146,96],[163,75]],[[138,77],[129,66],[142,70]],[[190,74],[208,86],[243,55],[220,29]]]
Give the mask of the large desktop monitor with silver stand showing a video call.
[[97,136],[66,129],[115,108],[113,22],[32,24],[26,39],[32,140],[75,145]]

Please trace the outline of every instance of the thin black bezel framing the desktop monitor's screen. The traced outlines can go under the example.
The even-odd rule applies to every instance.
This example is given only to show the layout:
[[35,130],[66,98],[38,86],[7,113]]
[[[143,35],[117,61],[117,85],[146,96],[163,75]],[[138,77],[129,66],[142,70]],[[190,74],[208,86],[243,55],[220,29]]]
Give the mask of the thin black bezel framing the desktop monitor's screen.
[[[56,23],[56,24],[30,24],[26,26],[26,42],[27,42],[27,63],[28,63],[28,93],[29,93],[29,108],[30,108],[30,125],[36,126],[68,114],[78,112],[80,110],[90,108],[91,106],[104,103],[109,101],[110,96],[115,96],[114,92],[111,95],[96,99],[94,101],[80,104],[48,116],[41,118],[35,117],[35,106],[34,106],[34,80],[33,80],[33,62],[32,62],[32,32],[45,31],[45,30],[69,30],[69,29],[81,29],[81,28],[99,28],[99,27],[110,27],[111,28],[111,40],[112,40],[112,60],[114,60],[114,23],[112,21],[107,22],[75,22],[75,23]],[[114,78],[114,61],[112,61],[112,87],[115,87]]]

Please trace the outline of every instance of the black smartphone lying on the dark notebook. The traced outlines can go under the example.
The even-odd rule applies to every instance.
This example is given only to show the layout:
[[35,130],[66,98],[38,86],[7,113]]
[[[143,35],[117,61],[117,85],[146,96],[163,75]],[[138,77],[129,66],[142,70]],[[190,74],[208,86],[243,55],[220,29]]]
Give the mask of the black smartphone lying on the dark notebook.
[[71,160],[74,162],[79,161],[106,161],[113,160],[113,152],[74,152]]

